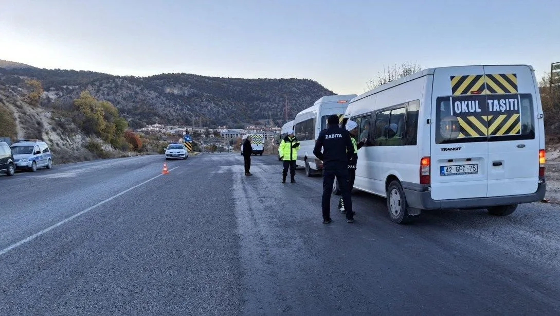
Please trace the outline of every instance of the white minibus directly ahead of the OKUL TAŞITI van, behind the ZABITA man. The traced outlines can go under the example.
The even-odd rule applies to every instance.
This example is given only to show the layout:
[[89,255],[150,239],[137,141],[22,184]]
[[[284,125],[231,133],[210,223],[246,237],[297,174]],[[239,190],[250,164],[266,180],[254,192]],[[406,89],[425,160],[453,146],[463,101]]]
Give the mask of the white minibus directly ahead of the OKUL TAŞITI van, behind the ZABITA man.
[[295,136],[300,141],[296,165],[305,167],[307,176],[322,173],[323,162],[313,155],[313,148],[319,132],[326,128],[326,118],[333,114],[342,117],[348,107],[348,102],[355,96],[357,95],[324,96],[315,101],[315,104],[310,108],[297,113],[293,120]]

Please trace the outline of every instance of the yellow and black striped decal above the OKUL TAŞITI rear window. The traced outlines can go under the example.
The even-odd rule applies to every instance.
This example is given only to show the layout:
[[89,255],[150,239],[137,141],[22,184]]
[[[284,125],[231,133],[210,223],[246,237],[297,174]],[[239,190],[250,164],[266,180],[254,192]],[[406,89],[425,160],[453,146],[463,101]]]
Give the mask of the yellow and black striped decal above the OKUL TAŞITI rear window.
[[517,93],[516,73],[451,76],[452,95]]

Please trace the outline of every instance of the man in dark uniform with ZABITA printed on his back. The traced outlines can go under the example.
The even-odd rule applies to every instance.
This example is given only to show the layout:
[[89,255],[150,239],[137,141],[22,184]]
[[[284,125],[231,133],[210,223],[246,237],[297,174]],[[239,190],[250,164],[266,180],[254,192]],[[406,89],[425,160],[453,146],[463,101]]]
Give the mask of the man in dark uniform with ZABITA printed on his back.
[[[323,224],[329,224],[330,218],[330,194],[333,192],[334,177],[338,179],[340,192],[346,207],[346,221],[354,222],[352,211],[352,199],[348,190],[348,161],[351,160],[354,148],[350,133],[338,126],[338,116],[330,115],[327,119],[328,127],[319,133],[315,142],[313,154],[323,160],[323,199],[321,209],[323,211]],[[321,148],[323,151],[321,152]]]

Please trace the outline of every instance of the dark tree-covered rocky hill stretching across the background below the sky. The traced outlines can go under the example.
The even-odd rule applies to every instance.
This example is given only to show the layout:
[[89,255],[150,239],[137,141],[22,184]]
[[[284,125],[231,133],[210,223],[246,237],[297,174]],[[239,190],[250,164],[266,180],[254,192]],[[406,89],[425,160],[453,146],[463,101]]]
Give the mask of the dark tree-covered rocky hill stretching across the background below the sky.
[[[193,124],[231,127],[268,119],[281,125],[288,117],[334,92],[306,79],[219,78],[168,73],[122,77],[90,71],[39,69],[0,61],[0,85],[20,86],[36,78],[45,91],[43,108],[71,108],[81,91],[113,103],[131,127],[144,124]],[[11,63],[6,65],[6,63]],[[23,66],[22,66],[23,65]],[[17,66],[17,67],[16,67]]]

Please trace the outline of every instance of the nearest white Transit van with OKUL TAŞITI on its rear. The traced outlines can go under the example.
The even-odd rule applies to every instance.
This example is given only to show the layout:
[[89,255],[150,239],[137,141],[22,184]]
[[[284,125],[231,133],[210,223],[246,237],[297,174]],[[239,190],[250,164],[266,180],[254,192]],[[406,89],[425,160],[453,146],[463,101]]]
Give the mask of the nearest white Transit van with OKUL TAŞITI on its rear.
[[387,198],[391,220],[421,210],[508,215],[544,197],[544,124],[531,66],[432,68],[355,97],[344,120],[371,146],[354,188]]

